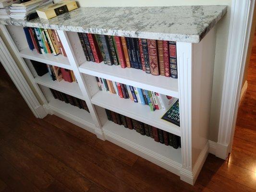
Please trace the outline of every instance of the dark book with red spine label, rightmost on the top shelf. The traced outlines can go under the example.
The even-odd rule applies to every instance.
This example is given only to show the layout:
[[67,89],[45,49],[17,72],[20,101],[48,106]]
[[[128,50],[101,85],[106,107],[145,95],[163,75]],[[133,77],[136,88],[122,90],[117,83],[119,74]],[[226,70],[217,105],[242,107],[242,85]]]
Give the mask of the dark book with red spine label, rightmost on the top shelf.
[[169,41],[169,51],[170,51],[171,77],[174,79],[177,79],[178,72],[177,72],[177,53],[176,53],[176,42],[175,41]]

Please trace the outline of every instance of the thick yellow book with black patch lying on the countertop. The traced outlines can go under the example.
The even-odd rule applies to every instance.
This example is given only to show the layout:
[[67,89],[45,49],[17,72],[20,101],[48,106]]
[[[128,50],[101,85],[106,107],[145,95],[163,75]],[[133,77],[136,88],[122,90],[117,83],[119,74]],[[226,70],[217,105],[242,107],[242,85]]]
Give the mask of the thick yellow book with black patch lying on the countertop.
[[74,0],[62,0],[58,3],[38,9],[37,14],[40,18],[50,19],[74,9],[77,9],[77,4]]

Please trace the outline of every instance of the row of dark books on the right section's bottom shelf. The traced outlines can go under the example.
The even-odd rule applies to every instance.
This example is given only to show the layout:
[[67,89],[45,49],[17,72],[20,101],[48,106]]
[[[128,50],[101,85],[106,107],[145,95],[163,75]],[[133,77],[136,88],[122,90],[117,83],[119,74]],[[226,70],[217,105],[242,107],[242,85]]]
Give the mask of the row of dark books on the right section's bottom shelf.
[[116,124],[123,125],[125,128],[134,129],[136,132],[153,138],[156,142],[161,144],[170,145],[177,149],[181,147],[181,137],[174,135],[170,132],[163,131],[156,127],[147,125],[146,123],[138,120],[131,119],[119,113],[106,110],[108,120],[113,121]]

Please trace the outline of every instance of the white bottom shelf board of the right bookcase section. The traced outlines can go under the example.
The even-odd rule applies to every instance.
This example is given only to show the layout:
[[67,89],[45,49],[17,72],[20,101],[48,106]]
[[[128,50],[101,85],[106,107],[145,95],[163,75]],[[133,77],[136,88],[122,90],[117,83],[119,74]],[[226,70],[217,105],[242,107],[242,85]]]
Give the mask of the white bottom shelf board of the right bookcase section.
[[[169,164],[181,167],[181,148],[174,149],[171,146],[155,142],[153,138],[141,135],[135,130],[124,128],[121,125],[115,124],[112,121],[107,121],[103,125],[103,131],[106,139],[110,142],[121,142],[123,144],[132,146],[134,149],[146,153],[146,155],[157,157]],[[115,141],[114,141],[115,140]],[[118,143],[117,143],[118,144]],[[125,148],[125,146],[122,145]],[[129,150],[129,148],[127,148]],[[132,152],[136,153],[136,151]],[[146,156],[144,156],[146,158]],[[151,159],[148,159],[151,160]]]

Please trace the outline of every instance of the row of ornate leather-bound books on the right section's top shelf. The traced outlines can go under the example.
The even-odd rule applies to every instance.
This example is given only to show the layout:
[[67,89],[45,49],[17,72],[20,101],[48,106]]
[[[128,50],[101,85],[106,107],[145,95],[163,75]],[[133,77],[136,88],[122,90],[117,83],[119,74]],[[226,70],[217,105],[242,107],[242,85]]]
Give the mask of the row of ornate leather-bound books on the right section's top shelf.
[[175,41],[78,33],[87,61],[178,78]]

